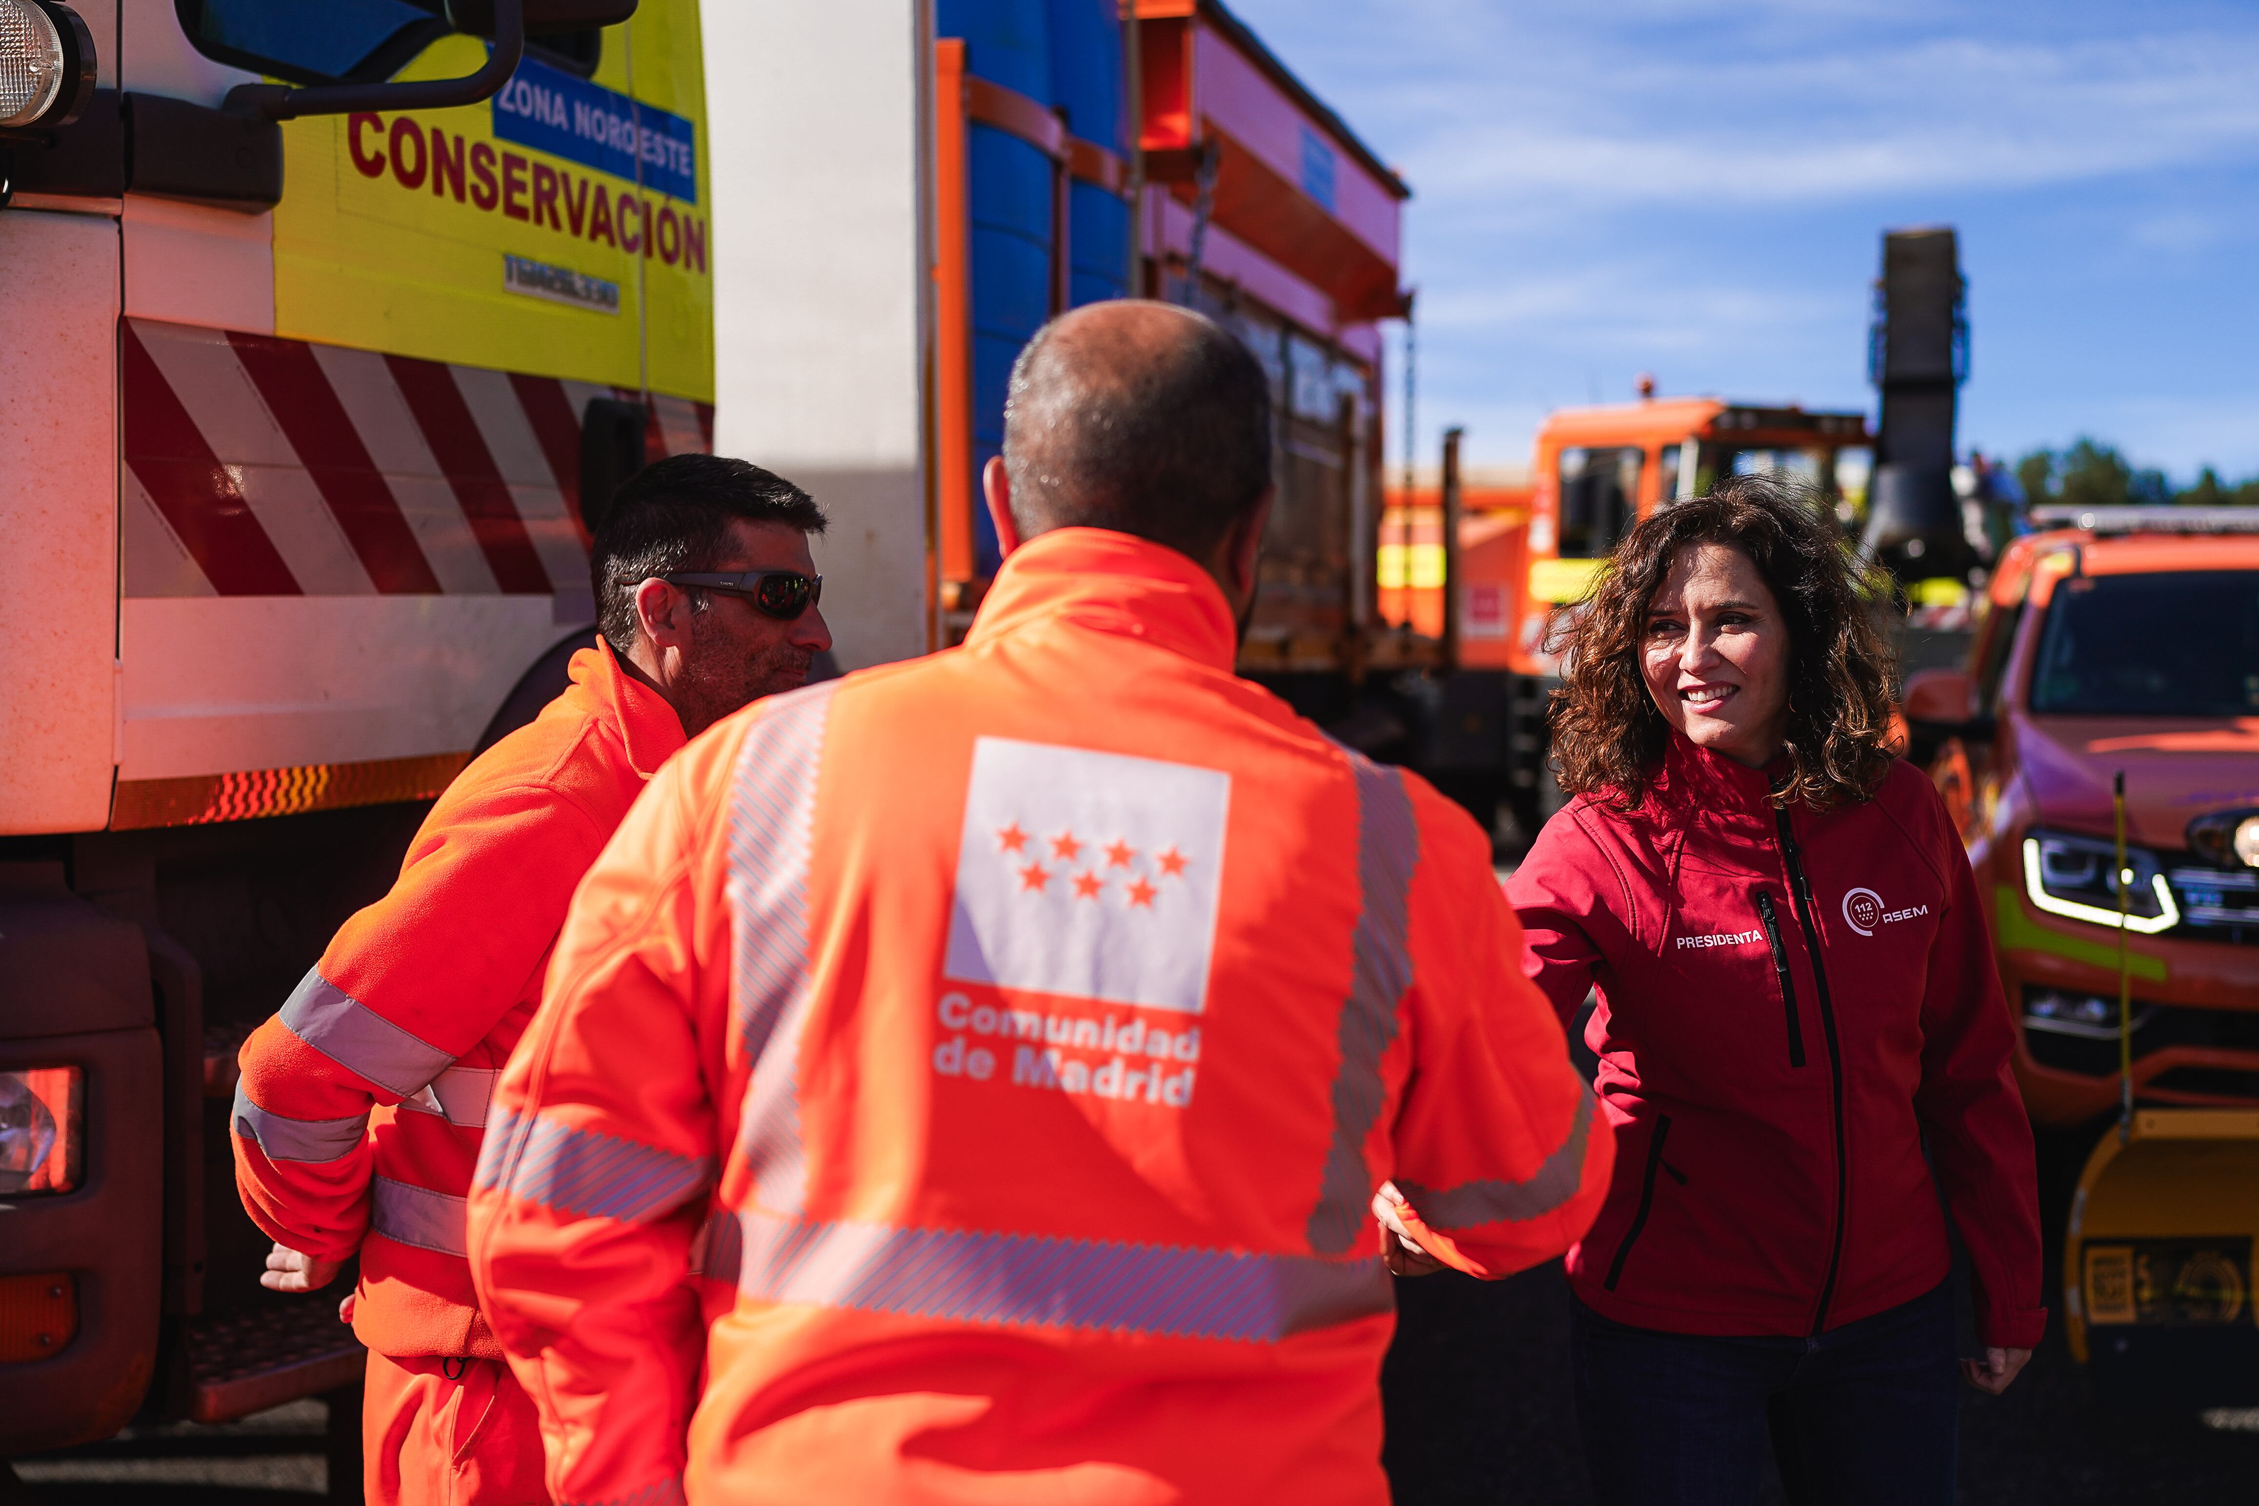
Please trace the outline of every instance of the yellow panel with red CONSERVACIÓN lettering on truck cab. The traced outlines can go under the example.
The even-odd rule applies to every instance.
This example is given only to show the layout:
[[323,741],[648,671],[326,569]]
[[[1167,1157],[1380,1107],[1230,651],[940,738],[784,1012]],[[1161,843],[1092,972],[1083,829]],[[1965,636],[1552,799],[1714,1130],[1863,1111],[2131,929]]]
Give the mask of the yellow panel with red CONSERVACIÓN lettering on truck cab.
[[[483,45],[441,38],[398,77],[459,77]],[[698,47],[694,0],[644,0],[592,79],[529,54],[483,104],[285,122],[276,332],[712,402]]]

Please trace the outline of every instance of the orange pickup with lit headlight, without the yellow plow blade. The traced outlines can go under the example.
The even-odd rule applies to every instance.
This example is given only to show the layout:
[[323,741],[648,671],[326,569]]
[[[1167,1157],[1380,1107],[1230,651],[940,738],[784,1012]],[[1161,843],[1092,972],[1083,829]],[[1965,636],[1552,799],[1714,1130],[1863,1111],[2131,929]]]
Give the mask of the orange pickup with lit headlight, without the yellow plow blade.
[[2259,1109],[2259,519],[2058,522],[2001,555],[1968,664],[1904,698],[1992,905],[2024,1102],[2119,1106],[2123,885],[2135,1097]]

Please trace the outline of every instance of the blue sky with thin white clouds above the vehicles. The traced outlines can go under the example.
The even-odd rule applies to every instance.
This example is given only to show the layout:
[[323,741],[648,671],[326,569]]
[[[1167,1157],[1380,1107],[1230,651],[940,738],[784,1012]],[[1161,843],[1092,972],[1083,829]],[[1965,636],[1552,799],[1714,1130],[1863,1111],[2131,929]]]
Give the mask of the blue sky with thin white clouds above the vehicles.
[[1952,224],[1963,449],[2259,472],[2259,5],[1229,5],[1412,183],[1423,461],[1640,370],[1873,411],[1882,230]]

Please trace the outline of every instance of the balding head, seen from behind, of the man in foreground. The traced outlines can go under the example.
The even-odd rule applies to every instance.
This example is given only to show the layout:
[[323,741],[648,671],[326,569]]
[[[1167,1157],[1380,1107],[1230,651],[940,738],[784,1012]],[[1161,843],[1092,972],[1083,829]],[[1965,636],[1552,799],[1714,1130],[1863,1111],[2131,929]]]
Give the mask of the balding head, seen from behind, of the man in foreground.
[[1270,382],[1190,309],[1093,303],[1019,352],[1003,463],[1021,537],[1114,528],[1206,560],[1270,490]]

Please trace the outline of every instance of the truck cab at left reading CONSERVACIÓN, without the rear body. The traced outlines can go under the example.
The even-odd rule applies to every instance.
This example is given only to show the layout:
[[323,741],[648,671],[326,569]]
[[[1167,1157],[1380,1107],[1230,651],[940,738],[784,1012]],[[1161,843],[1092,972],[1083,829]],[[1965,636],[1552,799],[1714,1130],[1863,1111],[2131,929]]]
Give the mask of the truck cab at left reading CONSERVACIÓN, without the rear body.
[[235,1048],[712,443],[691,0],[0,0],[0,1456],[359,1380]]

